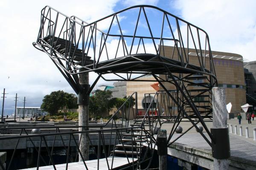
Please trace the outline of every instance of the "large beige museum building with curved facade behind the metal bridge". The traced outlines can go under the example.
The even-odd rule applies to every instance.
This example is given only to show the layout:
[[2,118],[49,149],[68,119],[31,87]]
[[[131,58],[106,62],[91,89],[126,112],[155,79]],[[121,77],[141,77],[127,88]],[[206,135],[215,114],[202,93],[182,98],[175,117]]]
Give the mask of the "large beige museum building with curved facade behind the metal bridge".
[[[174,49],[174,47],[172,46],[165,46],[164,49],[165,57],[172,57],[172,54],[174,54],[174,58],[178,58],[176,48]],[[189,53],[190,63],[194,65],[199,65],[195,49],[189,49],[189,51],[191,51]],[[207,51],[207,54],[208,53],[209,52]],[[224,87],[226,89],[226,103],[232,103],[231,113],[241,112],[241,105],[246,104],[246,85],[244,82],[243,57],[239,54],[212,51],[212,58],[215,66],[216,77],[218,79],[218,86]],[[206,60],[206,63],[209,63],[209,57],[206,57]],[[254,67],[252,66],[253,63]],[[253,69],[249,71],[254,71],[254,75],[256,75],[256,62],[252,62],[250,65],[248,65],[248,67],[250,66],[252,66]],[[209,65],[206,65],[206,68],[209,69]],[[164,76],[165,75],[160,75],[160,78],[163,78]],[[256,78],[256,76],[254,76],[254,78]],[[127,82],[127,96],[137,91],[138,108],[143,109],[145,108],[145,105],[148,105],[150,101],[152,101],[153,99],[153,96],[145,96],[145,94],[154,94],[158,89],[163,90],[163,88],[158,86],[156,82],[149,82],[151,80],[155,81],[154,77],[152,77],[151,75],[141,77],[140,79],[147,81]],[[205,80],[195,79],[195,83],[203,83],[204,81]],[[253,81],[251,83],[253,83]],[[175,86],[170,83],[163,82],[163,84],[166,86],[168,90],[175,89]],[[250,88],[250,91],[252,94],[256,94],[256,85],[254,84],[252,86],[254,88]],[[189,87],[189,89],[197,88],[200,87],[196,85]],[[209,99],[205,97],[205,99],[200,98],[200,100]]]

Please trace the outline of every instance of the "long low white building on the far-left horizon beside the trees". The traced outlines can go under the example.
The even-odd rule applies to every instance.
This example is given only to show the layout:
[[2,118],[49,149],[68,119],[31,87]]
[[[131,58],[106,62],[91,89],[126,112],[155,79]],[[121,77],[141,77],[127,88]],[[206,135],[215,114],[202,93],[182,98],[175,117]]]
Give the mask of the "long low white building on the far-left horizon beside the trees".
[[[23,107],[16,108],[16,116],[22,117],[24,113]],[[25,107],[25,117],[32,117],[34,115],[45,116],[47,112],[43,111],[40,107]]]

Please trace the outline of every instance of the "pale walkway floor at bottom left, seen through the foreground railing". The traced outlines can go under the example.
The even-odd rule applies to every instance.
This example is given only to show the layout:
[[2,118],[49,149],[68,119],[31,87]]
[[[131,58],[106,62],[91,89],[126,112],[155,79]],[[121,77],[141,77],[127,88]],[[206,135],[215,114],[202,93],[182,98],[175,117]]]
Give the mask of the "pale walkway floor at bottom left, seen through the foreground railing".
[[[128,158],[130,164],[132,165],[132,158]],[[108,164],[111,169],[111,162],[112,162],[112,157],[108,158]],[[124,157],[114,157],[113,160],[113,167],[112,170],[118,170],[121,169],[122,167],[129,166],[129,162],[127,158]],[[134,163],[137,162],[137,159],[134,159]],[[90,161],[85,161],[86,166],[88,170],[97,170],[98,168],[98,160],[90,160]],[[106,159],[99,159],[99,170],[108,170],[108,164]],[[55,165],[57,170],[66,170],[66,164],[57,164]],[[34,168],[28,168],[28,169],[23,169],[23,170],[36,170],[36,167]],[[54,170],[53,166],[44,166],[44,167],[39,167],[39,170]],[[81,162],[73,162],[68,164],[68,170],[85,170],[84,163]]]

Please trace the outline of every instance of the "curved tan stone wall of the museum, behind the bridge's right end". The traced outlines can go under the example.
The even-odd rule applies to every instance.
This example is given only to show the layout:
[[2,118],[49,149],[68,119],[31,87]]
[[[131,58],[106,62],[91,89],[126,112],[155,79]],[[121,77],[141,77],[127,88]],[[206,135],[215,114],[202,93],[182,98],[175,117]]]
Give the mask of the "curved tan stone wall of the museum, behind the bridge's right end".
[[[165,56],[172,57],[173,47],[165,46]],[[190,52],[195,52],[194,49],[189,49]],[[206,54],[209,54],[206,52]],[[212,56],[215,55],[223,55],[223,56],[232,56],[232,57],[241,57],[239,54],[233,53],[225,53],[219,51],[212,51]],[[177,59],[177,51],[175,49],[174,59]],[[245,89],[241,89],[240,85],[244,86],[244,67],[243,62],[240,60],[234,59],[220,59],[213,58],[216,77],[218,80],[218,84],[221,86],[223,84],[226,85],[239,85],[239,88],[226,88],[226,102],[227,104],[231,102],[232,104],[232,113],[238,113],[241,111],[241,105],[246,103],[246,91]],[[198,57],[189,55],[189,63],[193,65],[199,66]],[[206,68],[209,69],[209,57],[206,58]],[[205,82],[205,81],[204,81]],[[174,85],[170,85],[169,83],[165,83],[168,89],[174,89]],[[189,87],[189,89],[195,89],[197,87]],[[160,88],[160,90],[163,90]],[[195,94],[195,93],[194,93]],[[194,95],[192,94],[192,95]]]

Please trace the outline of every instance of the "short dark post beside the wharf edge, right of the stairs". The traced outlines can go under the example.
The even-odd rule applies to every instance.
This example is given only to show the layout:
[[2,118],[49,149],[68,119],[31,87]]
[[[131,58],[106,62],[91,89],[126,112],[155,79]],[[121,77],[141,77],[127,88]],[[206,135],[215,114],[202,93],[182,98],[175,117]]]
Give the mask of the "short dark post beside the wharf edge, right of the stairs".
[[157,154],[159,156],[159,170],[167,170],[167,132],[162,129],[157,137]]

